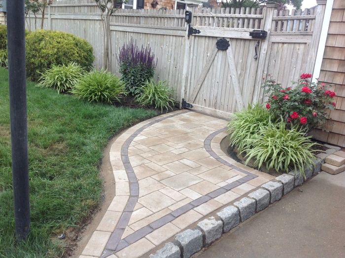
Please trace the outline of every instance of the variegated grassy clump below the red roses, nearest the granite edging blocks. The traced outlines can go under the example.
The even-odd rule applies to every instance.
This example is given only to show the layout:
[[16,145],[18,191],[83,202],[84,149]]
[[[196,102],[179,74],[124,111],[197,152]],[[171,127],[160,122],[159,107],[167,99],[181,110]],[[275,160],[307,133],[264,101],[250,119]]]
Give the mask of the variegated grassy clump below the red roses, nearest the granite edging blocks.
[[283,119],[278,124],[270,121],[268,125],[260,125],[257,134],[245,139],[246,146],[250,146],[244,149],[245,164],[253,160],[259,169],[266,164],[268,169],[286,173],[290,169],[299,170],[304,176],[305,167],[310,166],[314,158],[312,147],[317,145],[310,138],[297,126],[286,129]]

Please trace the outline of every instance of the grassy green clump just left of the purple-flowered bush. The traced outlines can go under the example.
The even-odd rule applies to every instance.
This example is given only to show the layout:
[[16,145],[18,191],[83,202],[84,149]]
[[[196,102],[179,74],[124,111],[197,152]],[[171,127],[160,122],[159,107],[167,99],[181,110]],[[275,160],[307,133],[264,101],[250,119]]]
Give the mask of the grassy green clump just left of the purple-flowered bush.
[[126,94],[125,83],[117,76],[105,71],[92,71],[81,77],[72,94],[89,102],[112,103],[120,101]]

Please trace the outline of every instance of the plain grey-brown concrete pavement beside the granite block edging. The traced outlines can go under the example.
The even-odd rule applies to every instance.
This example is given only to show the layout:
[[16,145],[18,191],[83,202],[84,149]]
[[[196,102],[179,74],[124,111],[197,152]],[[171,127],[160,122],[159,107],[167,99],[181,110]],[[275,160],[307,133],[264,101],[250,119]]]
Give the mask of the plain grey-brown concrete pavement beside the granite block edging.
[[197,257],[345,257],[345,173],[321,172]]

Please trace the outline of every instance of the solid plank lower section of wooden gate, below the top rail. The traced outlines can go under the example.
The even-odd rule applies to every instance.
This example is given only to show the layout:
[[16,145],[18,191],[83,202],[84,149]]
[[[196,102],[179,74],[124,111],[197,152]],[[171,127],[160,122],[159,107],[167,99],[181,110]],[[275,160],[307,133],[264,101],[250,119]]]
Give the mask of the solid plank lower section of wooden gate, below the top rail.
[[[235,37],[190,39],[185,100],[193,109],[229,117],[252,103],[260,41]],[[244,37],[244,36],[243,36]]]

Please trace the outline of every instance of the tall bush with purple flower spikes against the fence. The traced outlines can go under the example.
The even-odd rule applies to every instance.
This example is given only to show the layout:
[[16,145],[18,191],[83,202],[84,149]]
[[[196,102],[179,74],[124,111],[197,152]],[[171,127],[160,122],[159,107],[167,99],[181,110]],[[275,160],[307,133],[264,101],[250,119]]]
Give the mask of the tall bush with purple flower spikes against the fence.
[[120,49],[117,61],[122,80],[126,83],[126,88],[132,95],[136,94],[136,90],[145,81],[153,77],[156,67],[151,48],[141,46],[139,50],[133,40]]

